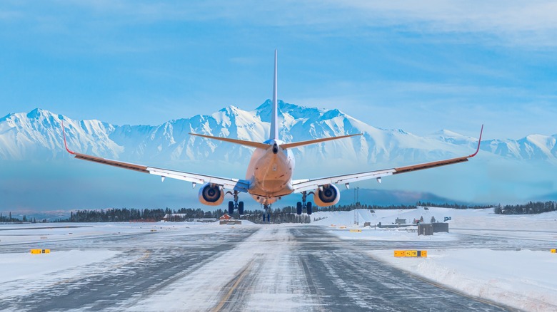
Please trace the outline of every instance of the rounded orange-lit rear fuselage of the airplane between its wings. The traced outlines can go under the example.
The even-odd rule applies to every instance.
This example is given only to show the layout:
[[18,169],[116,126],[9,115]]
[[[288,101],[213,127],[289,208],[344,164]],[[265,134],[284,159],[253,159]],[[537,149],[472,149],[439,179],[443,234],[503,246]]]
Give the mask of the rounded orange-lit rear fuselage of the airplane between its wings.
[[292,175],[294,170],[294,156],[291,150],[280,147],[281,140],[265,142],[269,148],[256,148],[251,155],[246,180],[249,180],[248,189],[251,197],[264,205],[276,202],[282,197],[293,192]]

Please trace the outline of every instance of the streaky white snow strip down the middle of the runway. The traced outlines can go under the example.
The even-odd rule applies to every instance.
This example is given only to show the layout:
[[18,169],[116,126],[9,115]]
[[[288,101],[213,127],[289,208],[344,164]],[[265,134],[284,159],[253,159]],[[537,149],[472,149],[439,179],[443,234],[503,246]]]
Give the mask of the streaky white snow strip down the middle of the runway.
[[[273,232],[273,248],[262,244],[270,232]],[[201,264],[188,276],[171,288],[156,291],[154,296],[142,299],[133,304],[128,311],[204,311],[208,306],[215,306],[226,294],[226,284],[229,284],[239,272],[246,270],[247,276],[254,276],[254,284],[258,287],[251,289],[249,306],[244,311],[269,311],[280,306],[285,311],[300,308],[309,303],[304,300],[303,285],[296,281],[303,272],[293,272],[292,269],[298,259],[293,259],[288,252],[288,232],[286,227],[264,227],[246,239],[244,244],[237,246],[208,263]],[[219,274],[215,274],[215,264],[232,264],[222,266]],[[272,268],[272,269],[271,269]],[[298,289],[291,289],[291,285],[298,285]],[[196,296],[184,298],[184,293],[195,293]],[[221,302],[222,303],[222,302]],[[219,308],[215,308],[219,310]]]

